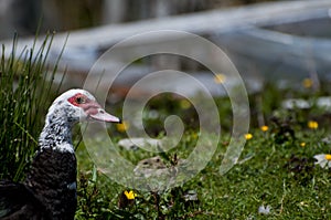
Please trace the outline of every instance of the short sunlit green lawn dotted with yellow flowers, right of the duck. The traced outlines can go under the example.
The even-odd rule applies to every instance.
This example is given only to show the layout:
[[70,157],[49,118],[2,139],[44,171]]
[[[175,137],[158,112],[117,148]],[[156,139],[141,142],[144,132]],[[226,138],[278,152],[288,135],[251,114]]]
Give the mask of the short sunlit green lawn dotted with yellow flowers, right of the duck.
[[[331,153],[330,143],[323,140],[330,136],[330,113],[317,107],[310,111],[285,111],[280,107],[281,97],[285,96],[313,99],[319,95],[308,88],[297,92],[270,86],[261,94],[252,95],[249,133],[253,138],[247,140],[238,164],[227,174],[221,176],[218,172],[229,140],[229,130],[225,129],[213,159],[194,178],[159,195],[136,190],[138,197],[125,208],[119,208],[118,202],[122,201],[122,191],[130,189],[94,169],[84,145],[81,145],[77,150],[81,168],[77,219],[330,219],[331,169],[314,165],[313,159],[314,155]],[[150,134],[162,130],[160,118],[164,118],[164,115],[175,112],[183,115],[185,124],[190,124],[190,116],[194,117],[194,111],[181,109],[181,101],[169,96],[163,98],[163,104],[159,105],[160,99],[157,98],[149,103],[152,107],[146,108],[160,113],[156,122],[145,123]],[[274,102],[269,102],[270,98]],[[268,102],[258,106],[256,99]],[[222,103],[218,106],[221,118],[228,117],[231,106],[227,98],[216,102]],[[256,108],[264,109],[263,116],[269,128],[267,132],[257,125],[257,115],[254,115],[257,114]],[[307,123],[311,119],[318,121],[318,129],[308,128]],[[231,127],[231,119],[223,122],[224,127]],[[167,153],[167,157],[177,155],[185,158],[194,148],[196,129],[192,124],[179,146]],[[115,139],[126,137],[116,132],[115,126],[111,126],[110,134]],[[120,149],[120,154],[134,164],[151,156],[141,149]],[[199,200],[186,201],[184,195],[188,191],[196,192]],[[260,206],[269,206],[270,213],[258,213]]]

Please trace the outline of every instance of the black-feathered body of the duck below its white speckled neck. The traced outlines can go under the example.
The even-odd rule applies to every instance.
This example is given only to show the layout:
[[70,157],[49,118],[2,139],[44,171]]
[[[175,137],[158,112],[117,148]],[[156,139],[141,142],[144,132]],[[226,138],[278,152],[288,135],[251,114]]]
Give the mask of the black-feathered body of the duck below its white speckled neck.
[[3,219],[74,219],[76,186],[75,155],[45,149],[35,156],[24,182],[0,184],[8,203]]

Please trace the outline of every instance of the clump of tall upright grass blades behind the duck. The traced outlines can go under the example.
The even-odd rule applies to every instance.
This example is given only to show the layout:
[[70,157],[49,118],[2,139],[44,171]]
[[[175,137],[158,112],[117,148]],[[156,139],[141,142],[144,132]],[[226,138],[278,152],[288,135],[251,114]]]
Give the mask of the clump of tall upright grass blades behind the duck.
[[[52,87],[56,67],[47,73],[51,81],[44,77],[52,38],[45,36],[40,48],[33,45],[23,51],[17,51],[17,38],[11,49],[2,46],[0,61],[1,179],[21,180],[36,149],[44,115],[57,90]],[[6,50],[11,51],[10,57],[4,57]]]

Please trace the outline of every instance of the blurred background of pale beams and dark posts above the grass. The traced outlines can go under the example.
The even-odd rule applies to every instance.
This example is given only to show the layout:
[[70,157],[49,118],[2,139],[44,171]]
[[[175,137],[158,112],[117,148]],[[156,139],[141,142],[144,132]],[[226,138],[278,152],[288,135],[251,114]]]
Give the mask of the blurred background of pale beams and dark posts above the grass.
[[[331,78],[330,9],[328,0],[1,0],[0,39],[8,48],[17,33],[28,39],[19,41],[18,50],[23,50],[33,44],[36,32],[56,33],[50,53],[54,63],[70,33],[58,72],[67,71],[64,87],[72,87],[82,86],[97,59],[121,40],[146,31],[181,30],[222,48],[248,92],[261,91],[266,82],[300,87],[300,83],[293,82],[305,78],[317,91],[321,80]],[[180,44],[166,36],[153,41]],[[147,39],[145,43],[153,44],[150,42]],[[140,50],[139,46],[138,43],[129,50]],[[217,57],[213,59],[217,62]],[[226,95],[220,85],[214,85],[214,76],[203,65],[169,54],[132,63],[116,81],[114,90],[124,95],[139,78],[164,67],[195,74],[213,95]],[[110,75],[111,72],[109,67]],[[175,87],[182,82],[171,83]],[[145,90],[148,93],[153,88]],[[194,86],[188,90],[192,94],[197,92]]]

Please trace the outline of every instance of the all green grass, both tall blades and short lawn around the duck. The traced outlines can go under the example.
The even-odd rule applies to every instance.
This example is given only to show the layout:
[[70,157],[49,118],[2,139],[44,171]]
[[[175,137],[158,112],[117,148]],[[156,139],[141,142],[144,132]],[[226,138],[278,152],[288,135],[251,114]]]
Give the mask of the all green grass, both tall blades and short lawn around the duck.
[[[44,115],[53,94],[56,94],[52,82],[44,80],[51,42],[49,36],[41,49],[21,53],[15,51],[14,40],[13,49],[10,49],[12,56],[1,57],[1,179],[23,178],[34,154]],[[14,53],[19,53],[21,59],[13,59]],[[207,166],[177,188],[159,192],[132,189],[137,193],[134,200],[122,195],[131,189],[98,171],[84,143],[81,143],[76,150],[79,169],[76,219],[330,219],[331,170],[314,165],[313,159],[317,154],[331,153],[330,140],[324,139],[330,137],[330,112],[316,106],[293,111],[280,107],[285,97],[313,101],[318,96],[330,95],[330,92],[328,84],[322,85],[319,92],[266,85],[263,93],[249,96],[249,133],[253,138],[247,140],[238,164],[223,176],[218,170],[228,146],[232,111],[228,98],[216,98],[223,133]],[[111,112],[120,114],[121,103],[111,106]],[[179,146],[160,156],[167,165],[185,158],[196,142],[196,112],[170,95],[151,99],[146,115],[149,112],[158,113],[158,117],[145,118],[148,134],[154,137],[164,135],[163,121],[169,114],[182,117],[185,133]],[[267,132],[260,130],[260,118],[268,125]],[[308,128],[309,121],[317,121],[319,128]],[[116,142],[126,137],[115,125],[109,127],[109,134]],[[212,134],[210,138],[213,138]],[[119,153],[134,164],[152,156],[141,149],[128,151],[119,148]],[[185,199],[188,192],[196,196],[197,200]],[[270,213],[258,213],[260,206],[269,206]]]

